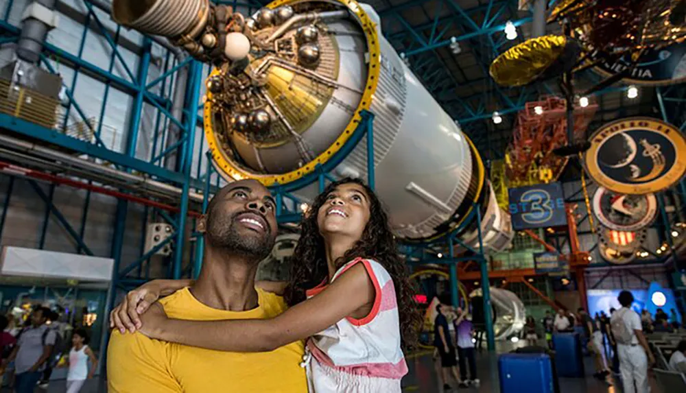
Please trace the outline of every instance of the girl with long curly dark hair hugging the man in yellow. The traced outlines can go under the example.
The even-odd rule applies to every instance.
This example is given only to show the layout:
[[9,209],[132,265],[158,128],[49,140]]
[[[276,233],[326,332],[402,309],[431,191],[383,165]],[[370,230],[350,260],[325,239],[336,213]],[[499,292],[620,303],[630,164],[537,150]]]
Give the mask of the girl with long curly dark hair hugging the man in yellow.
[[[311,392],[401,392],[407,373],[401,342],[414,343],[421,317],[405,261],[372,190],[353,179],[329,184],[303,219],[293,261],[286,291],[292,307],[276,318],[172,320],[152,307],[141,315],[139,329],[158,340],[235,352],[270,351],[309,337],[301,366]],[[130,298],[156,298],[178,287],[169,281],[146,285]],[[137,312],[150,300],[139,303]],[[126,309],[120,305],[113,313]]]

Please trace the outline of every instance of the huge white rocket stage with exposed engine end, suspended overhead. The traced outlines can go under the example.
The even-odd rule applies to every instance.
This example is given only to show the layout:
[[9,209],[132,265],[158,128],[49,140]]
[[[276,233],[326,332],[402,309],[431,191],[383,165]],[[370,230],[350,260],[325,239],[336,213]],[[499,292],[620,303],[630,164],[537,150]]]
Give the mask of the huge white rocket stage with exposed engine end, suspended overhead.
[[[433,239],[463,224],[474,246],[478,224],[463,221],[479,204],[484,247],[508,246],[509,216],[477,150],[383,37],[369,5],[277,0],[246,18],[207,0],[114,0],[113,18],[215,65],[204,128],[227,180],[294,182],[342,149],[369,110],[376,191],[398,236]],[[366,155],[360,143],[332,175],[366,176]]]

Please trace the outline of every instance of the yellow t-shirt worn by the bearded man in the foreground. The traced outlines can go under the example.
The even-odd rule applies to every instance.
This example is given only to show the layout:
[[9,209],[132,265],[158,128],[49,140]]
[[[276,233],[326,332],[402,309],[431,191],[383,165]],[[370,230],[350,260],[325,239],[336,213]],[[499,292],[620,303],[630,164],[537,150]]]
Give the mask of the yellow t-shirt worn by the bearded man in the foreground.
[[[212,309],[188,288],[161,300],[169,318],[237,320],[272,318],[286,309],[280,296],[257,289],[259,307],[250,311]],[[294,342],[272,352],[221,352],[151,340],[141,333],[113,331],[107,350],[110,393],[306,393],[305,348]]]

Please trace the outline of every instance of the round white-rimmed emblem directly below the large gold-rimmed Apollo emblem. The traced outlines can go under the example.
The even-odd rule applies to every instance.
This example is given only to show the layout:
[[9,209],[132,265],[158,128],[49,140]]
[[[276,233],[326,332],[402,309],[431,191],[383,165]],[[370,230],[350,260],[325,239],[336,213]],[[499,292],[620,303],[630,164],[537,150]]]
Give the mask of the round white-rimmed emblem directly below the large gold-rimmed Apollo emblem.
[[646,195],[619,194],[598,187],[593,195],[593,213],[607,228],[632,231],[650,225],[657,215],[657,198]]

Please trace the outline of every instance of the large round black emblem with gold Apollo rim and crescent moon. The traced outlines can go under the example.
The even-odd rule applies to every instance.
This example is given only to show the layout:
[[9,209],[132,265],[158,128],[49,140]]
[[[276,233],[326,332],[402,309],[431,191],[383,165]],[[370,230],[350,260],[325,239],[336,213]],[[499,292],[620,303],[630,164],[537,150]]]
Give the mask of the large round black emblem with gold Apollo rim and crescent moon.
[[686,171],[686,140],[678,128],[650,117],[608,123],[593,136],[584,154],[586,170],[615,193],[656,193],[678,182]]

